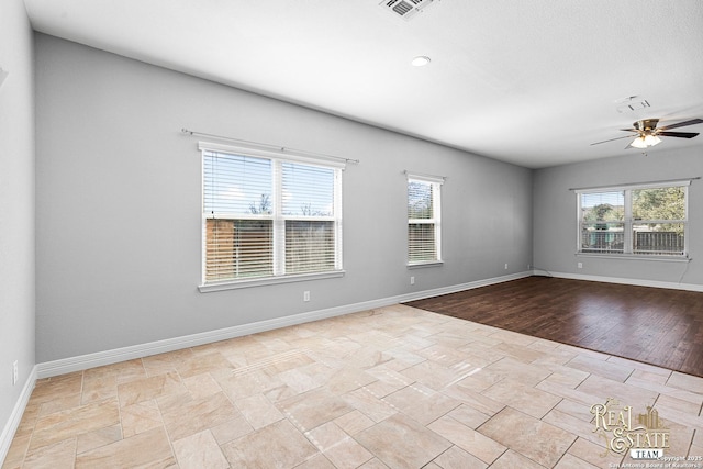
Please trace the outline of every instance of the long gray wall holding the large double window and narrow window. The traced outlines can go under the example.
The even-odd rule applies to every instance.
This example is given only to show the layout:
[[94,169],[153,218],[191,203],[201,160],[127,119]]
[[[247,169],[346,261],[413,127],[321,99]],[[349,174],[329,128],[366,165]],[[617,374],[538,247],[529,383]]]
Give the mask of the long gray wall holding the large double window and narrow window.
[[[52,36],[35,41],[38,362],[517,273],[532,263],[528,169]],[[346,276],[200,293],[201,163],[197,138],[181,127],[360,159],[344,174]],[[403,170],[448,177],[443,267],[405,267]]]

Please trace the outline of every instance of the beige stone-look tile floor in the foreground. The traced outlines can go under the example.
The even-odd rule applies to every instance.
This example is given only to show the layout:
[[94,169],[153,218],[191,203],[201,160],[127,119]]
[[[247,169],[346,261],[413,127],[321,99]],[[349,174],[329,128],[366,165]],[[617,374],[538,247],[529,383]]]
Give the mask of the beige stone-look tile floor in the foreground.
[[2,467],[610,469],[609,398],[703,456],[701,378],[394,305],[40,380]]

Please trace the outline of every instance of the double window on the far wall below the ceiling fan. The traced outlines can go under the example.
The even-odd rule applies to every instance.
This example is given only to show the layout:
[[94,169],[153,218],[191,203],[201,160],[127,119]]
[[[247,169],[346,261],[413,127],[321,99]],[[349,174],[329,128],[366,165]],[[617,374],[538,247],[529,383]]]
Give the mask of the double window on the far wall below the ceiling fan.
[[685,256],[689,181],[578,190],[581,254]]

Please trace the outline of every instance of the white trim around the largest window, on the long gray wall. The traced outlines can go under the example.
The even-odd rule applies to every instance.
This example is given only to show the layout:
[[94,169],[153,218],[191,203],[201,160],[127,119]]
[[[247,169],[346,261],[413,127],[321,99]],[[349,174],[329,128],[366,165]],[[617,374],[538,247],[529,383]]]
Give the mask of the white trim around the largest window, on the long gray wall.
[[[299,281],[308,281],[308,280],[317,280],[317,279],[327,279],[327,278],[338,278],[338,277],[344,277],[346,271],[344,270],[344,266],[343,266],[343,243],[342,243],[342,234],[343,234],[343,215],[342,215],[342,183],[343,183],[343,178],[342,178],[342,171],[344,171],[344,169],[346,169],[346,160],[345,161],[341,161],[338,159],[332,159],[332,158],[327,158],[325,156],[308,156],[308,155],[297,155],[297,154],[291,154],[290,152],[284,150],[283,148],[281,148],[280,152],[276,152],[276,150],[271,150],[271,149],[261,149],[261,148],[257,148],[254,146],[243,146],[243,145],[223,145],[223,144],[216,144],[216,143],[209,143],[209,142],[198,142],[198,149],[200,152],[200,164],[201,164],[201,174],[200,174],[200,183],[201,183],[201,189],[200,189],[200,193],[201,193],[201,241],[200,241],[200,247],[201,247],[201,272],[200,272],[200,283],[198,284],[198,290],[201,293],[207,293],[207,292],[213,292],[213,291],[223,291],[223,290],[235,290],[235,289],[243,289],[243,288],[250,288],[250,287],[261,287],[261,286],[270,286],[270,284],[278,284],[278,283],[291,283],[291,282],[299,282]],[[302,165],[311,165],[311,166],[317,166],[317,167],[322,167],[322,168],[327,168],[327,169],[333,169],[335,171],[335,182],[334,182],[334,187],[333,187],[333,191],[334,191],[334,213],[332,217],[308,217],[305,219],[305,221],[315,221],[315,220],[322,220],[324,219],[325,221],[333,221],[334,222],[334,228],[335,228],[335,243],[334,243],[334,257],[335,257],[335,268],[334,270],[328,270],[328,271],[321,271],[321,272],[305,272],[305,273],[290,273],[290,275],[277,275],[275,273],[274,276],[268,276],[268,277],[257,277],[257,278],[250,278],[250,279],[226,279],[226,280],[213,280],[213,281],[205,281],[205,263],[207,263],[207,256],[205,256],[205,236],[207,236],[207,220],[208,219],[212,219],[213,216],[210,214],[205,214],[202,211],[202,206],[204,206],[204,153],[205,152],[214,152],[214,153],[225,153],[225,154],[231,154],[231,155],[239,155],[239,156],[250,156],[250,157],[258,157],[258,158],[267,158],[267,159],[271,159],[274,163],[274,166],[278,166],[280,168],[280,166],[282,166],[286,163],[294,163],[294,164],[302,164]],[[278,197],[280,198],[281,196],[281,181],[277,181],[276,179],[279,178],[278,175],[274,175],[272,176],[272,186],[275,186],[277,189],[277,192],[274,193],[274,197]],[[338,178],[338,180],[336,180]],[[280,178],[279,178],[280,179]],[[278,201],[280,203],[280,201]],[[281,206],[280,204],[277,206]],[[215,212],[214,217],[217,216],[217,213]],[[223,219],[231,219],[230,215],[223,216]],[[250,220],[259,220],[263,219],[260,215],[248,215],[248,214],[243,214],[242,216],[237,216],[236,220],[245,220],[245,219],[250,219]],[[280,214],[279,216],[274,216],[272,219],[264,217],[266,220],[272,220],[274,225],[278,222],[278,223],[283,223],[287,220],[301,220],[298,216],[289,216],[289,215],[283,215]],[[276,237],[276,235],[274,235]],[[283,233],[279,233],[278,235],[283,236],[284,237],[284,232]],[[276,244],[276,239],[274,241],[274,243]],[[284,259],[278,259],[279,263],[284,263]],[[276,263],[276,258],[274,259],[274,263]],[[275,272],[277,267],[274,266]]]

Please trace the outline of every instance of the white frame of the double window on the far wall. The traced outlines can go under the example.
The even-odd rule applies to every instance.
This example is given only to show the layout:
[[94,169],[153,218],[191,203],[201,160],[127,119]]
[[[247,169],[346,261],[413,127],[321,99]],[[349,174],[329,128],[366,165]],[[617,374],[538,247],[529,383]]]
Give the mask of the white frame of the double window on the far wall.
[[[577,200],[577,233],[576,233],[576,254],[584,257],[604,257],[604,258],[629,258],[629,259],[647,259],[647,260],[679,260],[688,261],[689,257],[689,186],[691,180],[672,180],[661,182],[646,182],[638,185],[623,185],[611,187],[599,187],[589,189],[574,189]],[[683,220],[634,220],[633,217],[633,197],[632,192],[639,189],[658,189],[682,187],[684,192],[684,219]],[[601,192],[623,192],[624,196],[624,217],[623,224],[623,252],[622,253],[590,253],[583,252],[582,247],[582,224],[581,219],[581,196],[587,193]],[[683,254],[636,254],[634,253],[633,225],[636,223],[680,223],[683,224]]]

